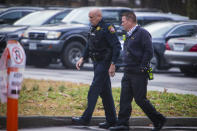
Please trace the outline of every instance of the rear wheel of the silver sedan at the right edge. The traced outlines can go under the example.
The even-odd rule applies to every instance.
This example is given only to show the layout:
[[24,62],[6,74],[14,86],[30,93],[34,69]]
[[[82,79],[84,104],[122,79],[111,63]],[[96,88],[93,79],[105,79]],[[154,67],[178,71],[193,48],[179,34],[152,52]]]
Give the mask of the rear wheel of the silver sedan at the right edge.
[[195,76],[197,74],[197,67],[184,66],[180,67],[180,70],[185,76]]

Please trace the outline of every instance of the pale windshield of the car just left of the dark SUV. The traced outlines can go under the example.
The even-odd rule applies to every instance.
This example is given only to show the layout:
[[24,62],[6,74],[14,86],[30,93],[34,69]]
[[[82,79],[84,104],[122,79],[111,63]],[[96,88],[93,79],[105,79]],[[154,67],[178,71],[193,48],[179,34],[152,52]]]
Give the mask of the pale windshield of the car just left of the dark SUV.
[[13,25],[39,26],[39,25],[44,24],[48,19],[54,16],[57,12],[59,11],[37,11],[19,19]]

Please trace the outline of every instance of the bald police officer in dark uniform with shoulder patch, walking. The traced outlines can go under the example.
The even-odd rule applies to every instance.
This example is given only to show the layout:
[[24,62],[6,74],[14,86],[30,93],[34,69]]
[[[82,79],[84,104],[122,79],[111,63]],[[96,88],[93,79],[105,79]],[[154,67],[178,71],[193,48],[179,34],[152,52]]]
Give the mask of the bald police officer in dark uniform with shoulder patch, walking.
[[105,109],[106,122],[100,123],[100,128],[114,126],[117,120],[114,100],[111,91],[110,76],[115,75],[115,63],[120,53],[120,42],[112,25],[106,24],[102,19],[100,9],[89,12],[91,23],[88,44],[82,58],[77,62],[79,70],[84,60],[90,57],[94,65],[94,78],[88,92],[87,108],[81,117],[73,117],[74,124],[89,124],[100,95]]

